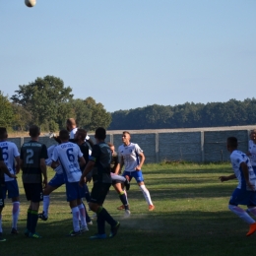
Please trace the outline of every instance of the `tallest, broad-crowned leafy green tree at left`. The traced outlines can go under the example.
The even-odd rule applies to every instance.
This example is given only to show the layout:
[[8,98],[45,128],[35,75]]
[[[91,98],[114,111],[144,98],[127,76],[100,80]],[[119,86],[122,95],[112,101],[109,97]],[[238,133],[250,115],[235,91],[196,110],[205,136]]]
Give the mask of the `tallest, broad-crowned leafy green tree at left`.
[[65,114],[70,112],[70,109],[65,107],[63,112],[63,104],[72,99],[71,92],[70,87],[64,88],[61,79],[46,76],[37,78],[29,85],[19,86],[19,90],[15,91],[16,94],[11,99],[30,111],[32,120],[37,125],[49,123],[49,121],[59,124],[65,118]]

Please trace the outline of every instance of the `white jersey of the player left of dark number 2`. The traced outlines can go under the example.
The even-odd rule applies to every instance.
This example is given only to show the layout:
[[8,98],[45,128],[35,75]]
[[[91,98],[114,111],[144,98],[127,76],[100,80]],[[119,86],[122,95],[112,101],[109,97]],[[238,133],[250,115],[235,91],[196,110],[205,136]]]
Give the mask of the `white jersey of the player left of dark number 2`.
[[[20,153],[16,144],[13,142],[0,142],[0,148],[2,149],[2,155],[4,162],[12,174],[15,174],[15,158],[20,157]],[[5,181],[11,181],[14,178],[10,178],[5,174]]]

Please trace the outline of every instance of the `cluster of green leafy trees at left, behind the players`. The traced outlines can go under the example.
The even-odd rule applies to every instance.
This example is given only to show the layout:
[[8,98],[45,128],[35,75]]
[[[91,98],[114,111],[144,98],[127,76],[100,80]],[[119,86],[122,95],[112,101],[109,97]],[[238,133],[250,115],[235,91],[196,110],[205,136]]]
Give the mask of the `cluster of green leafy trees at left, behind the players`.
[[57,131],[69,117],[89,131],[107,128],[111,122],[111,113],[101,103],[91,96],[73,98],[72,89],[53,76],[19,86],[10,99],[0,91],[0,126],[13,130],[27,131],[36,124],[42,131]]

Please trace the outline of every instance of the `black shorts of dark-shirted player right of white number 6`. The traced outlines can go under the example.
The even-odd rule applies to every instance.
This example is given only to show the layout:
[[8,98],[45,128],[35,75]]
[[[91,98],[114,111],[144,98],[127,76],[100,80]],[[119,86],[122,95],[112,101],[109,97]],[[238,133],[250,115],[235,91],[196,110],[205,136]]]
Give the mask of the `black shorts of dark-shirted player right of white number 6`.
[[91,192],[90,202],[102,205],[110,186],[110,183],[96,182]]

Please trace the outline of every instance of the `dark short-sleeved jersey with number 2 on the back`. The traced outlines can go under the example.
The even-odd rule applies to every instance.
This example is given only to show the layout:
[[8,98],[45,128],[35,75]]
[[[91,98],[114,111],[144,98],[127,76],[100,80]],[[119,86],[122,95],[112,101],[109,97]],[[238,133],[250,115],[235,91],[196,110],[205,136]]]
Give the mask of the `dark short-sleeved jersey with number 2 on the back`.
[[36,141],[25,143],[21,149],[23,182],[41,183],[40,160],[48,159],[46,146]]

